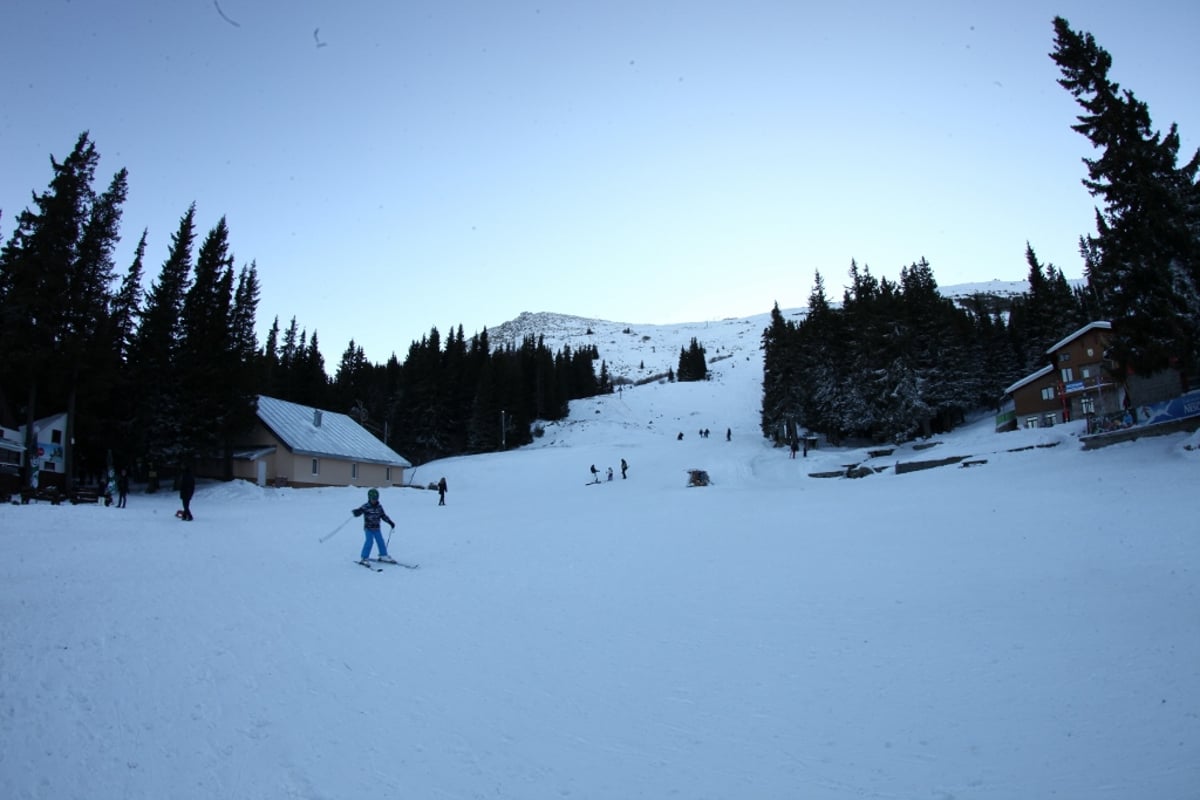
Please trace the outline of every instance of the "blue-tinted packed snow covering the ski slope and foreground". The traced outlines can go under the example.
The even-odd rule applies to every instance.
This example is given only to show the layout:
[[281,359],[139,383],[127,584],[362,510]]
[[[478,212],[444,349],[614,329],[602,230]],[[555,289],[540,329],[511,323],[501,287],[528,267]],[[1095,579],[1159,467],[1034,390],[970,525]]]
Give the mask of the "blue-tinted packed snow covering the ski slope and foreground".
[[418,570],[354,564],[361,487],[0,507],[0,798],[1196,798],[1200,439],[793,459],[764,324],[564,327],[713,379],[410,470]]

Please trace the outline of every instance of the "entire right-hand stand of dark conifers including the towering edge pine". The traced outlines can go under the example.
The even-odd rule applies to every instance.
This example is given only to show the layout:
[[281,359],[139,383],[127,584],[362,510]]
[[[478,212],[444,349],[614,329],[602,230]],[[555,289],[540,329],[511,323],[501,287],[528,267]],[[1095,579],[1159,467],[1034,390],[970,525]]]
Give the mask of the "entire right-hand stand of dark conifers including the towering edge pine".
[[1112,324],[1112,378],[1174,368],[1195,375],[1200,342],[1200,151],[1178,162],[1180,136],[1153,130],[1146,104],[1108,77],[1111,56],[1090,34],[1054,20],[1058,83],[1082,107],[1073,128],[1099,152],[1084,185],[1102,201],[1080,237],[1086,285],[1072,290],[1026,247],[1030,290],[1001,307],[940,296],[923,259],[899,283],[851,263],[841,306],[820,272],[808,315],[778,306],[763,331],[763,433],[802,429],[838,440],[904,440],[994,407],[1003,389],[1045,366],[1054,343],[1093,320]]

